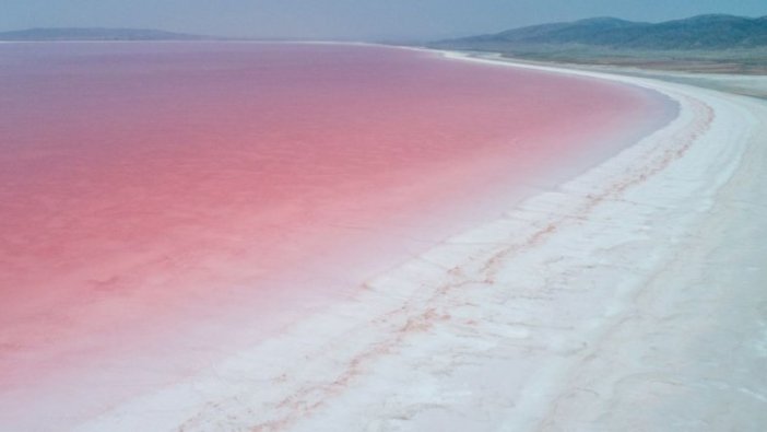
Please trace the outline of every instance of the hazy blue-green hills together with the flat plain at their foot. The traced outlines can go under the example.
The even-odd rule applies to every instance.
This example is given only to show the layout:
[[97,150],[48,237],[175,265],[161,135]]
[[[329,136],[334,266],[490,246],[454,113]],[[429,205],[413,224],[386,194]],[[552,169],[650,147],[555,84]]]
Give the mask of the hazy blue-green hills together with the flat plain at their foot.
[[699,15],[657,24],[594,17],[427,46],[534,61],[767,74],[767,16]]

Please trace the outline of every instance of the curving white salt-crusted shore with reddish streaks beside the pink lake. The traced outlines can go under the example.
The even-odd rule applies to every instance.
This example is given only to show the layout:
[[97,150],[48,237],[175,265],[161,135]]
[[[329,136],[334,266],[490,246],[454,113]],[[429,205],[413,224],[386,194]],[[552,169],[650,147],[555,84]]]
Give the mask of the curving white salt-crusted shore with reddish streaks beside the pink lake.
[[767,105],[562,72],[654,89],[681,114],[347,302],[80,430],[764,430]]

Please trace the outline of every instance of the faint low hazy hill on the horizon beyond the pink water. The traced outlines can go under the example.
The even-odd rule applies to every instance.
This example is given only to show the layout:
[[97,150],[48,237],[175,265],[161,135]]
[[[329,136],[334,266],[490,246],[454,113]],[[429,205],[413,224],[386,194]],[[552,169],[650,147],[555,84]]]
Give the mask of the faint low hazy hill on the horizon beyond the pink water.
[[28,28],[0,32],[0,40],[201,40],[211,37],[145,28]]

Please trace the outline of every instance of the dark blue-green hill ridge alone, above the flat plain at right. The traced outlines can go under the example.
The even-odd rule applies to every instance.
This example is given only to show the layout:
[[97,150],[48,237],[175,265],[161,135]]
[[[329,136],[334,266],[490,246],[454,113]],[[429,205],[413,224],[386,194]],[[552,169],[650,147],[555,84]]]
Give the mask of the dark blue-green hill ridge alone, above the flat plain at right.
[[615,49],[718,50],[767,47],[767,16],[699,15],[658,24],[597,17],[534,25],[433,45],[489,47],[579,44]]

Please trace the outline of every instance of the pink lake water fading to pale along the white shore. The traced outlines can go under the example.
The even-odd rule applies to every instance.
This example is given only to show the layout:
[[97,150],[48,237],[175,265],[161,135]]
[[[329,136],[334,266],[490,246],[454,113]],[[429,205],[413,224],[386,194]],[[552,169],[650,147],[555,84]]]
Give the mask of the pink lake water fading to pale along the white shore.
[[393,48],[5,44],[0,110],[0,425],[28,425],[354,295],[672,108]]

